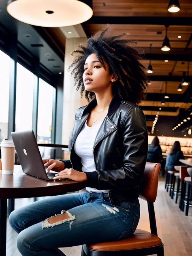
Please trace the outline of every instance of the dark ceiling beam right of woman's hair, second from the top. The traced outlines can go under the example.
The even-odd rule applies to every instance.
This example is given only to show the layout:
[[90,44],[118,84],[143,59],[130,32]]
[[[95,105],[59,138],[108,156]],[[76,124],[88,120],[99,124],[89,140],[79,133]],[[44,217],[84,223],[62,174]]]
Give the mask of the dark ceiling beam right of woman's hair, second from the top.
[[167,53],[145,53],[146,60],[178,60],[178,61],[192,61],[190,54],[167,54]]

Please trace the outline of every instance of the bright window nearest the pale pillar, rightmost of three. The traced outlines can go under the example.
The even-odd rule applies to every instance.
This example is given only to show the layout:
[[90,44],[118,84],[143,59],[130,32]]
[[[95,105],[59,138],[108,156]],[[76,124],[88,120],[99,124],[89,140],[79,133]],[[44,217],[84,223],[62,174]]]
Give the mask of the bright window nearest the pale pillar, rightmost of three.
[[51,143],[53,95],[55,88],[41,78],[38,92],[37,142]]

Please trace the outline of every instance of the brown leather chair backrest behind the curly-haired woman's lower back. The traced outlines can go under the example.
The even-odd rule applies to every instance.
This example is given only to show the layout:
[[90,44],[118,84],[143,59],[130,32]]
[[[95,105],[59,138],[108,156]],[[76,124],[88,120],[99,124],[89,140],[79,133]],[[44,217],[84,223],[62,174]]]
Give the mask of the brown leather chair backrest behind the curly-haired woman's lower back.
[[161,165],[146,162],[143,180],[139,186],[139,197],[149,203],[156,201]]

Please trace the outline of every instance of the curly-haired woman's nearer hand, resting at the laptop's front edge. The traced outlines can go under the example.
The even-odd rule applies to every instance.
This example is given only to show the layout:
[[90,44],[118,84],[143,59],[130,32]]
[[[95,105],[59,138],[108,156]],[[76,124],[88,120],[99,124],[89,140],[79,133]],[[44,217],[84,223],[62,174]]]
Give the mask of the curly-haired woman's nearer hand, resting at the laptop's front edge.
[[74,181],[84,181],[87,180],[87,175],[74,169],[64,169],[60,173],[55,174],[53,179],[72,179]]

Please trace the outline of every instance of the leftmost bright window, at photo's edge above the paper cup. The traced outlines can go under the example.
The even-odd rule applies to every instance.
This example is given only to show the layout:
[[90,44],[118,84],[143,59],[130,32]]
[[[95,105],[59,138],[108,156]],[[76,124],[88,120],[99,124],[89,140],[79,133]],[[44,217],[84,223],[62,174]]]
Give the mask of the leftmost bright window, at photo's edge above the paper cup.
[[0,141],[8,136],[10,57],[0,51]]

